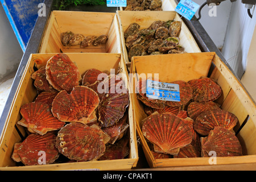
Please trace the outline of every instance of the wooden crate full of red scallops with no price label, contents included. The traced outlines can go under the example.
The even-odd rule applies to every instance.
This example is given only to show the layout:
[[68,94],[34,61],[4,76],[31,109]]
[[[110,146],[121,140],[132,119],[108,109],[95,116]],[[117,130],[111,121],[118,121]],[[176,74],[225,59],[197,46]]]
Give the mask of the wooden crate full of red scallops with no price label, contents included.
[[1,136],[0,170],[137,166],[128,76],[118,53],[35,53]]

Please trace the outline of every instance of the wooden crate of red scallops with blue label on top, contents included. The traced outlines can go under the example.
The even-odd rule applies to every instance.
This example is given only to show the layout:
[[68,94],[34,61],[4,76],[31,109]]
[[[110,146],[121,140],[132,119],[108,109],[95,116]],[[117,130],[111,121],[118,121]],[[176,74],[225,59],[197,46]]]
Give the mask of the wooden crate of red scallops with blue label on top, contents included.
[[255,102],[215,52],[134,56],[130,80],[150,167],[256,163]]

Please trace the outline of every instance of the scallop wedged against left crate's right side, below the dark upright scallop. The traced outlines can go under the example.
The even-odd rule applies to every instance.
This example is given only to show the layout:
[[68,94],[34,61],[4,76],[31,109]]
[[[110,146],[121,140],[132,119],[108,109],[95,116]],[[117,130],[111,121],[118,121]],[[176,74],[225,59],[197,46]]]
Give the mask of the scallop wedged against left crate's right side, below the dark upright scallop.
[[123,134],[125,133],[126,129],[129,127],[126,121],[127,121],[127,112],[125,113],[125,115],[123,115],[123,117],[117,123],[114,123],[114,125],[101,128],[106,134],[109,135],[110,137],[109,143],[114,144],[115,140],[121,139],[123,137]]

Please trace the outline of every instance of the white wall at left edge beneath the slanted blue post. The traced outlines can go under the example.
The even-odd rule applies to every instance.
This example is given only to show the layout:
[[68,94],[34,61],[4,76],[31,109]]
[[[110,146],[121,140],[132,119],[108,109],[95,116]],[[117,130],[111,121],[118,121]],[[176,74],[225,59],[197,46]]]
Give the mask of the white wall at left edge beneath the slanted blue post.
[[16,72],[23,51],[0,3],[0,81]]

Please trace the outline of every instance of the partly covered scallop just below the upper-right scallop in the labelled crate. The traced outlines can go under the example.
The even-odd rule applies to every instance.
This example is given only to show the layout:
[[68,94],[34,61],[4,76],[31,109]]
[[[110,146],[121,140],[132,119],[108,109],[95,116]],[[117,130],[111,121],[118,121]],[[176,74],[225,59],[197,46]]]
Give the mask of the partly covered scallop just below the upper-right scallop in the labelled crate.
[[220,109],[220,106],[216,102],[191,102],[188,105],[188,115],[192,119],[196,119],[196,117],[201,114],[203,111]]

